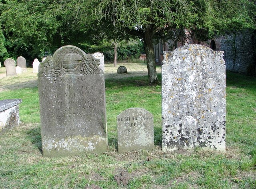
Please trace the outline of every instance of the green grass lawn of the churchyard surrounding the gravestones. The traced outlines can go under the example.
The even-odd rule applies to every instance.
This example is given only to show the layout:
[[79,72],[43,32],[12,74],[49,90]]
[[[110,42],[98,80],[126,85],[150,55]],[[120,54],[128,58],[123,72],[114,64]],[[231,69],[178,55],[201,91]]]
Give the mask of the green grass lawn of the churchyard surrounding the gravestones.
[[[106,64],[109,150],[104,155],[46,158],[41,153],[37,76],[4,77],[0,99],[21,98],[19,127],[0,135],[0,188],[231,189],[256,188],[256,78],[227,73],[226,152],[161,151],[161,86],[148,86],[146,64]],[[157,68],[161,80],[161,68]],[[154,115],[154,151],[118,155],[116,116],[141,107]],[[120,184],[116,181],[121,181]]]

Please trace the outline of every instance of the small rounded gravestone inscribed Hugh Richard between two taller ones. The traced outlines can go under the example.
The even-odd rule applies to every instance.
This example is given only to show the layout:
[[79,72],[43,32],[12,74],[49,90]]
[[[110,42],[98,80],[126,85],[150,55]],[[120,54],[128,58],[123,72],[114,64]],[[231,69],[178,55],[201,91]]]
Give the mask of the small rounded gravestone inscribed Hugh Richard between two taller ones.
[[117,116],[118,153],[154,149],[153,115],[142,108],[129,108]]

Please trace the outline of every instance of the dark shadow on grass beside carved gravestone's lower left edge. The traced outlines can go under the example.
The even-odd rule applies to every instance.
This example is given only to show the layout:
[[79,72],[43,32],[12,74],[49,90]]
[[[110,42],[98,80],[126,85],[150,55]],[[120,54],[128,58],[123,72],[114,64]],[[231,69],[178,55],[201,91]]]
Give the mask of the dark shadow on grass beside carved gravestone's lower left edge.
[[28,139],[35,145],[41,153],[42,151],[42,137],[41,137],[41,129],[40,125],[37,127],[30,129],[26,132]]

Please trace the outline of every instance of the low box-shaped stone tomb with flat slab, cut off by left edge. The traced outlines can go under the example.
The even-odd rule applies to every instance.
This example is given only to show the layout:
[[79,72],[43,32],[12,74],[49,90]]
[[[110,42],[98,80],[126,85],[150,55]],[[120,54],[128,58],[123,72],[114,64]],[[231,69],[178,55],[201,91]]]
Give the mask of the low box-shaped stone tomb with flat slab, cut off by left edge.
[[22,99],[0,100],[0,133],[20,124],[19,104]]

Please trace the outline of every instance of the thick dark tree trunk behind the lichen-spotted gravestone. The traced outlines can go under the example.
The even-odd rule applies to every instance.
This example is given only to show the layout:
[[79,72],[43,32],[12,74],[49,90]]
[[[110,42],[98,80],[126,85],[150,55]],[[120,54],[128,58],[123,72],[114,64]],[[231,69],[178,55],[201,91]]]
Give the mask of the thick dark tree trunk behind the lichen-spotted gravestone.
[[156,75],[156,63],[154,54],[154,44],[153,44],[154,30],[153,28],[146,28],[144,33],[144,46],[147,56],[147,67],[148,67],[148,79],[149,85],[157,85],[158,79]]

